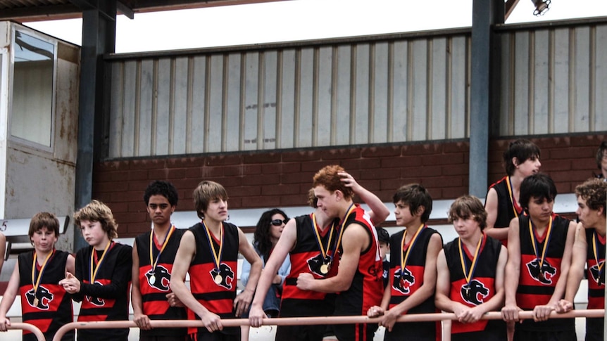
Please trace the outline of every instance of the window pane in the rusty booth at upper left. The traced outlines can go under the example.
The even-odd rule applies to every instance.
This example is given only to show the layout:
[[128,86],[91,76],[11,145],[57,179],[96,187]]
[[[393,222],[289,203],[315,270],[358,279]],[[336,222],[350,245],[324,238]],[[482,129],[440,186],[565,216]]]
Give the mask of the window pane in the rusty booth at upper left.
[[54,45],[15,32],[11,135],[51,146]]

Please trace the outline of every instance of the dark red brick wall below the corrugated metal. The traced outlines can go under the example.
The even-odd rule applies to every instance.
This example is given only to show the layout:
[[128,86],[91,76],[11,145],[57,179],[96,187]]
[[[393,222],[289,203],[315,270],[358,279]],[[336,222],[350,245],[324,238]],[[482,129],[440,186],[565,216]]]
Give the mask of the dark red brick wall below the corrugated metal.
[[[542,171],[560,193],[596,171],[594,153],[607,135],[554,136],[532,139],[542,148]],[[511,140],[489,144],[489,181],[503,174],[501,154]],[[403,184],[424,184],[434,200],[468,192],[469,143],[412,143],[401,146],[289,150],[154,159],[112,160],[94,167],[93,198],[106,202],[120,224],[121,237],[149,229],[143,191],[150,181],[171,181],[180,195],[177,210],[194,210],[192,191],[202,180],[225,186],[230,208],[306,205],[312,176],[325,165],[342,165],[384,202]]]

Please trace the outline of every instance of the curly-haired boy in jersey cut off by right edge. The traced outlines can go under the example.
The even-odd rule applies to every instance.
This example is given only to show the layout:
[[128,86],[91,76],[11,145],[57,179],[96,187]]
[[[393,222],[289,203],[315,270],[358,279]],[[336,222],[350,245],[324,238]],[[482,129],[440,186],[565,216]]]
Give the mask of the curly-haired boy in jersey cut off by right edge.
[[[605,307],[605,229],[607,182],[589,179],[575,188],[577,217],[571,269],[567,279],[565,299],[559,302],[558,312],[573,309],[573,299],[584,278],[584,265],[588,278],[587,309]],[[605,319],[586,318],[586,340],[603,340]]]

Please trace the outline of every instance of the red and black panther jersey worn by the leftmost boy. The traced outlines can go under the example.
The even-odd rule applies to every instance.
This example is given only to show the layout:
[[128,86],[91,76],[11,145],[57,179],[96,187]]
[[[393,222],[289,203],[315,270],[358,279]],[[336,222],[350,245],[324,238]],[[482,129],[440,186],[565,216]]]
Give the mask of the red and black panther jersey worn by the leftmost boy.
[[[34,291],[32,283],[34,252],[24,252],[18,257],[21,314],[23,322],[36,326],[44,333],[46,340],[52,340],[61,326],[74,321],[72,298],[58,284],[65,278],[65,263],[69,253],[54,250],[44,266],[39,286]],[[36,265],[37,279],[41,268],[39,264]],[[23,340],[37,340],[37,338],[30,331],[23,330]],[[64,335],[62,340],[74,340],[73,330]]]

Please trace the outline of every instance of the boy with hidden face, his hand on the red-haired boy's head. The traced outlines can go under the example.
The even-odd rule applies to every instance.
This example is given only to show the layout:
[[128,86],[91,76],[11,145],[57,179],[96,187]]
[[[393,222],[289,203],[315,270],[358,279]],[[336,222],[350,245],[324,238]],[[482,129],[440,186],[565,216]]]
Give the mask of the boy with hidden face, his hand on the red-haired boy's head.
[[[389,215],[389,210],[376,195],[359,185],[350,174],[339,172],[344,186],[351,188],[370,208],[368,212],[374,224],[380,224]],[[275,250],[265,264],[257,286],[257,292],[249,321],[251,326],[261,326],[265,318],[262,304],[265,292],[269,287],[273,271],[278,269],[287,254],[291,260],[291,271],[284,281],[280,317],[327,316],[334,311],[334,295],[325,292],[301,290],[296,287],[297,277],[301,273],[309,273],[314,278],[328,278],[337,274],[337,263],[334,262],[334,241],[337,238],[332,224],[334,219],[317,205],[313,189],[308,192],[308,204],[315,209],[312,214],[290,219],[284,229]],[[331,264],[331,266],[328,266]],[[325,265],[325,266],[323,266]],[[324,272],[326,271],[326,273]],[[320,341],[323,336],[332,335],[325,332],[326,326],[279,326],[276,330],[276,340]]]

